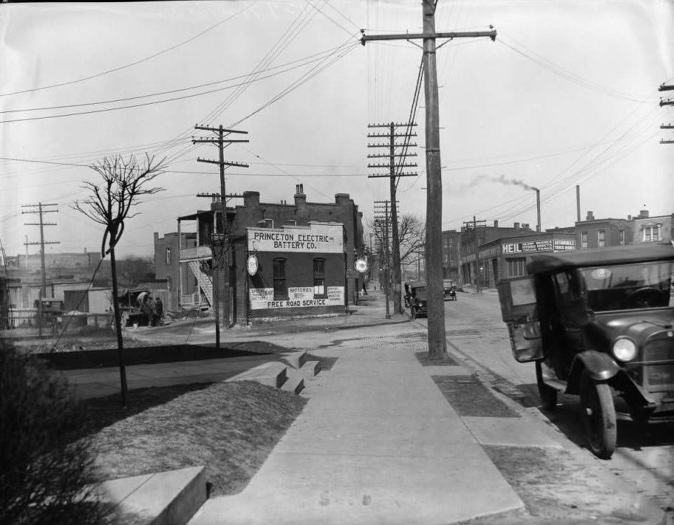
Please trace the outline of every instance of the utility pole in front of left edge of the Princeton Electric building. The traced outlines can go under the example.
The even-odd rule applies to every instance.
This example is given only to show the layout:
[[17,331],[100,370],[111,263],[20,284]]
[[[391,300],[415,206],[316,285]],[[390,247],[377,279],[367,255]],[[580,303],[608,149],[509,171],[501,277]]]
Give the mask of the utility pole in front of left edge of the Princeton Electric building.
[[[222,127],[222,124],[217,128],[210,128],[209,126],[194,126],[195,130],[212,131],[217,133],[216,138],[199,138],[192,139],[192,144],[216,144],[220,153],[220,158],[217,161],[208,160],[205,158],[196,158],[197,162],[205,162],[210,164],[217,164],[220,166],[220,231],[217,232],[217,225],[215,232],[211,238],[211,250],[213,250],[213,302],[215,303],[215,348],[220,348],[220,301],[222,301],[222,317],[224,318],[224,325],[229,329],[229,264],[227,264],[227,275],[224,275],[224,282],[222,284],[222,294],[220,294],[220,272],[224,264],[224,255],[229,252],[229,238],[227,236],[227,191],[224,186],[224,168],[229,166],[237,166],[239,168],[248,168],[248,164],[228,162],[224,160],[224,149],[234,142],[249,142],[247,139],[225,139],[231,133],[240,133],[248,135],[247,131],[227,130]],[[225,135],[227,134],[227,135]],[[222,198],[224,196],[224,198]]]

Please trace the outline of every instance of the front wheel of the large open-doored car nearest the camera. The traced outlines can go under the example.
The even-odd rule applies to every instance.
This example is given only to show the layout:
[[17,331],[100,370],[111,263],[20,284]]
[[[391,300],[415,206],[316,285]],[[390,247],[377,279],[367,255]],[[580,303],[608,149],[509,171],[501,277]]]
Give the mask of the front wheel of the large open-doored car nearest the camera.
[[605,381],[595,381],[583,371],[580,385],[588,445],[598,458],[610,459],[616,449],[616,408],[611,387]]

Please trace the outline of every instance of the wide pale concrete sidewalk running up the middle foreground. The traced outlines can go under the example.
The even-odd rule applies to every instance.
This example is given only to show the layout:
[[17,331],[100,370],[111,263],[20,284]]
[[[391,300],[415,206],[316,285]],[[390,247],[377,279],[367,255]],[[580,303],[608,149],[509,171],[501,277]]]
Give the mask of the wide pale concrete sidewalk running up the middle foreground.
[[423,368],[410,348],[340,348],[244,491],[189,523],[448,524],[523,507]]

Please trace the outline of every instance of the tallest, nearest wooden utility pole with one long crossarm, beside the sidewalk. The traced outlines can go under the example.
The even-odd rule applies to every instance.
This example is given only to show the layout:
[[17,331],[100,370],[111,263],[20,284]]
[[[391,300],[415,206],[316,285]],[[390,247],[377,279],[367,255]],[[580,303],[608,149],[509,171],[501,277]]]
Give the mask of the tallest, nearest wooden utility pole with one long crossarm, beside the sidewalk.
[[[442,359],[446,353],[445,300],[443,297],[443,182],[440,173],[440,117],[438,111],[438,75],[436,39],[488,36],[496,40],[496,30],[471,32],[436,32],[438,0],[422,0],[424,32],[365,36],[367,41],[422,39],[424,41],[424,94],[426,97],[426,282],[429,294],[429,358]],[[441,46],[444,44],[440,44]]]

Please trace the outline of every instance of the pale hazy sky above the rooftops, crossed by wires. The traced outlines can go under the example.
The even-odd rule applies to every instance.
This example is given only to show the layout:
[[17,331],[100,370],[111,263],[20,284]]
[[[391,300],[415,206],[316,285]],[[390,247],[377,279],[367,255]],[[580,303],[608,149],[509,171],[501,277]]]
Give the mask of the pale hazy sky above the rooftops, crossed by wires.
[[[573,226],[577,216],[674,212],[674,3],[649,0],[438,0],[436,30],[497,38],[438,39],[443,230],[465,221]],[[135,207],[118,256],[150,255],[153,233],[208,209],[220,191],[208,132],[248,132],[231,144],[227,193],[309,202],[349,193],[366,228],[389,181],[368,178],[368,124],[405,123],[414,107],[421,41],[365,34],[422,32],[410,0],[234,0],[0,6],[0,242],[6,256],[39,241],[49,252],[100,250],[102,226],[72,208],[105,156],[166,158],[164,191]],[[398,184],[399,212],[425,217],[425,101],[414,113],[415,177]],[[243,135],[242,135],[243,137]],[[233,137],[241,138],[241,137]],[[241,204],[231,200],[230,205]],[[183,223],[183,229],[189,229]],[[29,245],[29,253],[39,252]]]

